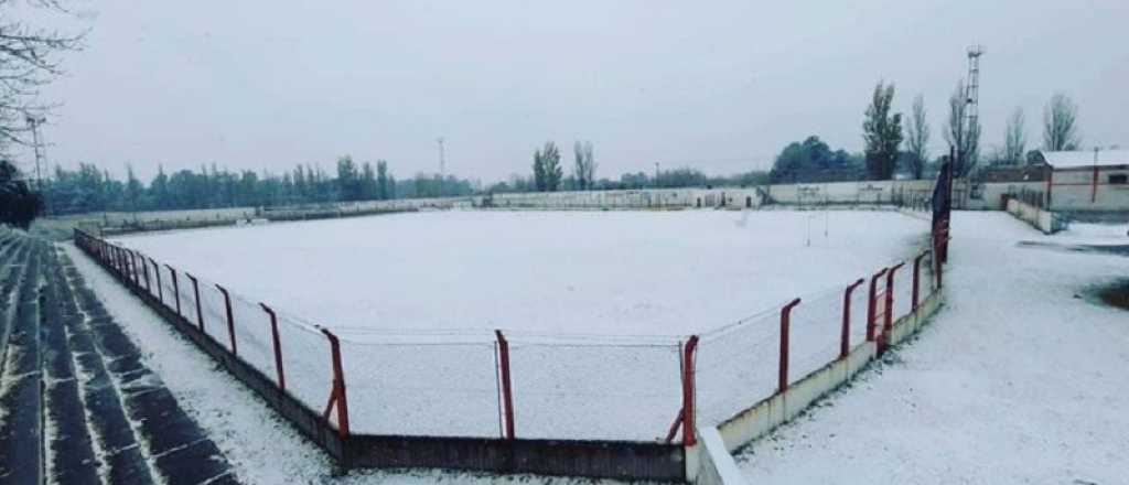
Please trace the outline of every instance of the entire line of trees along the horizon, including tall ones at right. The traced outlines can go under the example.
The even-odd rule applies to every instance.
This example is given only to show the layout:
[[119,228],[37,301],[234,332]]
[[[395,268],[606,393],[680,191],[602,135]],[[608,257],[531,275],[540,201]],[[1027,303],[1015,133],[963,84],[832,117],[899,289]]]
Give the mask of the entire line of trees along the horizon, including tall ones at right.
[[[79,164],[75,170],[61,167],[46,177],[41,199],[35,186],[6,161],[0,162],[0,202],[3,222],[26,226],[40,208],[51,213],[68,214],[98,211],[154,211],[216,209],[231,206],[274,206],[306,203],[374,201],[435,196],[461,196],[476,193],[555,192],[592,189],[680,188],[715,186],[753,186],[768,183],[823,183],[864,179],[890,179],[931,176],[947,153],[929,160],[930,129],[921,96],[913,99],[912,111],[902,131],[902,115],[893,113],[894,86],[879,82],[864,113],[863,153],[833,150],[812,135],[788,143],[777,155],[770,171],[751,170],[733,176],[709,176],[692,167],[622,174],[619,178],[597,178],[594,149],[590,142],[576,141],[574,165],[566,175],[558,146],[549,141],[533,155],[530,177],[513,175],[484,189],[476,182],[455,176],[417,174],[397,179],[385,160],[357,164],[349,156],[336,161],[336,169],[326,173],[315,165],[298,165],[281,174],[253,170],[230,171],[211,166],[199,170],[182,169],[157,175],[145,183],[130,168],[124,179],[93,164]],[[980,161],[980,126],[969,126],[968,104],[963,83],[957,83],[949,97],[949,113],[943,130],[952,147],[954,168],[968,176]],[[1080,146],[1077,106],[1064,94],[1056,94],[1043,113],[1043,149],[1074,150]],[[986,157],[988,165],[1017,165],[1031,159],[1026,151],[1024,116],[1016,109],[1007,120],[1003,150]],[[901,148],[905,142],[904,149]],[[30,214],[30,215],[28,215]]]

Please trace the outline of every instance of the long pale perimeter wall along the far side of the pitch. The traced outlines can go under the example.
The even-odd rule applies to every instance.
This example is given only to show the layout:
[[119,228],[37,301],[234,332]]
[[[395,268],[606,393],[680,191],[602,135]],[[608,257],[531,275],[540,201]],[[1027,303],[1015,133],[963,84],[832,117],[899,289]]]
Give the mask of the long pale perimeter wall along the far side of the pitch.
[[[935,180],[835,182],[778,184],[758,187],[639,188],[627,191],[539,192],[461,197],[397,199],[391,201],[336,202],[277,208],[233,208],[156,212],[106,212],[41,219],[41,232],[58,239],[73,228],[97,235],[150,230],[234,226],[256,221],[332,219],[384,213],[452,210],[681,210],[758,209],[767,204],[902,205],[927,206]],[[1045,183],[973,184],[956,180],[954,206],[968,210],[1004,210],[1004,196],[1023,191],[1044,191]]]

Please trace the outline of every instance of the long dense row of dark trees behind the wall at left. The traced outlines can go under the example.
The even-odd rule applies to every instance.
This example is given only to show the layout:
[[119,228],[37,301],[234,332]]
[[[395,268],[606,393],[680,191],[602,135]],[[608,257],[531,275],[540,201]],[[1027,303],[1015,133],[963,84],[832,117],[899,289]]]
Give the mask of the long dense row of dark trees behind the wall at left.
[[166,174],[159,168],[148,183],[132,168],[124,179],[93,164],[78,169],[55,167],[44,183],[49,210],[55,214],[99,211],[160,211],[234,206],[376,201],[391,199],[457,196],[474,193],[475,183],[455,176],[418,174],[397,179],[385,160],[356,164],[341,157],[334,174],[318,166],[298,165],[283,174],[229,171],[201,166]]

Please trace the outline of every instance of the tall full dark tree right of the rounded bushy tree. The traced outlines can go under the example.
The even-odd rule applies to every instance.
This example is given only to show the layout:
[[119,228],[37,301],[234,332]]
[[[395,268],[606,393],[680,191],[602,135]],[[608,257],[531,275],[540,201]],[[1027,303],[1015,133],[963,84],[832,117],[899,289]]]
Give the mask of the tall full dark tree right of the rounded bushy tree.
[[866,141],[866,170],[870,178],[887,180],[894,176],[898,161],[898,146],[902,143],[902,115],[890,114],[894,102],[894,85],[878,82],[874,87],[870,105],[863,122],[863,139]]

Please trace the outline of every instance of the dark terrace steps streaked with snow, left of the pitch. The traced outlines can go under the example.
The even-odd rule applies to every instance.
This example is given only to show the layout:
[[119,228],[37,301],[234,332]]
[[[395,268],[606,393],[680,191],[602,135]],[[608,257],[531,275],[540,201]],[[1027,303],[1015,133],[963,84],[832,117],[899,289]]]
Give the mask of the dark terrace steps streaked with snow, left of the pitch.
[[0,235],[0,484],[237,483],[53,245]]

